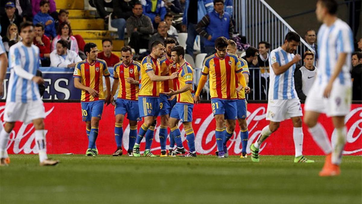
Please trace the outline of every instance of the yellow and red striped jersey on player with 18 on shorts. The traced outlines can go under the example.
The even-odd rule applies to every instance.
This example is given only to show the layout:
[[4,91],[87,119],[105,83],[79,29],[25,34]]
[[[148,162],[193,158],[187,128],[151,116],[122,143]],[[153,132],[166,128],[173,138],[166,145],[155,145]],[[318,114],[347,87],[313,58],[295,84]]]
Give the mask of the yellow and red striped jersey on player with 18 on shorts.
[[147,72],[153,71],[155,75],[161,76],[161,65],[158,59],[147,55],[141,62],[141,81],[139,96],[159,97],[160,82],[151,81]]

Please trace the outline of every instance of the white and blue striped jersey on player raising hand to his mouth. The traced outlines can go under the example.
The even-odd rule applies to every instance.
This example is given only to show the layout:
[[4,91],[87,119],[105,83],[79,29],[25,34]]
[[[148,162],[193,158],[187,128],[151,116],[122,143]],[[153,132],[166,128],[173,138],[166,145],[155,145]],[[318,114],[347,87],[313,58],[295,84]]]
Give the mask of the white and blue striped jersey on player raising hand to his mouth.
[[285,52],[282,47],[274,49],[270,52],[269,67],[270,67],[270,82],[269,82],[269,95],[268,99],[292,99],[298,98],[294,87],[294,70],[295,64],[290,66],[284,73],[278,76],[274,74],[271,67],[275,62],[279,66],[288,64],[294,58],[294,54]]

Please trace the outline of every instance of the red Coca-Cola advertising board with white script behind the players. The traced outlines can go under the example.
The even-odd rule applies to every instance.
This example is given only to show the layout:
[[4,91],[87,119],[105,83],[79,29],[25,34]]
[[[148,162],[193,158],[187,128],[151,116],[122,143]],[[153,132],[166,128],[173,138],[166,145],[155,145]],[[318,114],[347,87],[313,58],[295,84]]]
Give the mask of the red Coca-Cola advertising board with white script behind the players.
[[[80,103],[44,103],[46,111],[45,127],[47,151],[49,154],[84,154],[88,139],[85,132],[85,123],[82,122]],[[263,127],[268,125],[266,117],[265,103],[248,104],[248,130],[249,146],[260,136]],[[3,120],[5,103],[0,103],[0,116]],[[303,105],[302,105],[303,108]],[[334,141],[335,133],[330,118],[321,115],[319,122],[327,131],[329,137],[332,135]],[[362,155],[362,105],[353,104],[350,113],[346,116],[346,126],[348,128],[347,144],[344,154]],[[104,107],[102,119],[97,138],[97,148],[100,154],[112,154],[116,149],[114,139],[114,106]],[[139,127],[142,122],[139,122]],[[160,152],[159,125],[157,120],[155,137],[153,139],[152,151],[155,154]],[[182,124],[179,125],[184,146],[187,148],[186,135]],[[195,132],[195,145],[198,154],[214,154],[216,151],[215,120],[212,115],[210,103],[201,103],[194,106],[193,128]],[[123,151],[128,148],[129,124],[125,119],[123,122]],[[230,155],[241,154],[240,128],[237,126],[234,135],[227,143]],[[323,152],[313,141],[308,133],[307,127],[303,126],[304,132],[304,155],[322,155]],[[293,126],[291,120],[283,121],[280,128],[274,132],[261,146],[263,155],[294,155]],[[169,139],[167,140],[167,145]],[[144,150],[144,140],[141,150]],[[14,130],[10,134],[8,143],[9,154],[35,154],[38,152],[35,146],[34,127],[32,124],[16,123]]]

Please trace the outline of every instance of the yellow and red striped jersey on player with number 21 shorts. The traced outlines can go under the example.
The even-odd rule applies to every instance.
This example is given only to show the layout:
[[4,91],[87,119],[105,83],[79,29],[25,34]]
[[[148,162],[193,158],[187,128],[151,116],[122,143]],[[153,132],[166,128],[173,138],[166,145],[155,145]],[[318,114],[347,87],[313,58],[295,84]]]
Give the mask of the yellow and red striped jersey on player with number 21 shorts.
[[211,98],[236,99],[235,75],[243,71],[244,62],[236,54],[227,53],[221,59],[216,54],[207,57],[202,74],[208,75]]

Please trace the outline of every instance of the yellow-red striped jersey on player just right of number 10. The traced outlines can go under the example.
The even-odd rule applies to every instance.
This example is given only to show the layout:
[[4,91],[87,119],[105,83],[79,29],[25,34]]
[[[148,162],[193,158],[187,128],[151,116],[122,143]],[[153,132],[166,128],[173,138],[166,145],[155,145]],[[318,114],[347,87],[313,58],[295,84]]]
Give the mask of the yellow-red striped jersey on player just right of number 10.
[[123,62],[118,62],[114,65],[113,69],[113,78],[119,79],[117,98],[134,101],[138,100],[138,85],[127,83],[126,78],[132,78],[139,81],[139,72],[141,70],[139,62],[132,60],[129,66],[126,66]]

